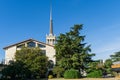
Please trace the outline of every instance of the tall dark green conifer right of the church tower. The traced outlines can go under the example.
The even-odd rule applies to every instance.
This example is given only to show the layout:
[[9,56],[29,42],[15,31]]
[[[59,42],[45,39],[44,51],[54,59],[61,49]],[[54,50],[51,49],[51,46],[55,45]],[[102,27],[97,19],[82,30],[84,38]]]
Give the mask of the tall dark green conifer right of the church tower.
[[91,62],[91,57],[94,56],[94,54],[89,54],[90,45],[83,43],[85,36],[80,33],[82,27],[82,24],[74,25],[69,32],[57,37],[55,45],[57,65],[65,70],[71,68],[84,70],[86,64]]

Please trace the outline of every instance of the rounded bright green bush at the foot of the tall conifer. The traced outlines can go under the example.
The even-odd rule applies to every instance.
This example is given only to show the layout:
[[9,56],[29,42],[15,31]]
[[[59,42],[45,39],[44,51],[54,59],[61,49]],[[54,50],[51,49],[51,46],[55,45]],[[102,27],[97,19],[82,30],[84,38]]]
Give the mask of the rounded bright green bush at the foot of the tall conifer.
[[64,73],[65,79],[74,79],[79,77],[80,77],[80,73],[75,69],[66,70]]

